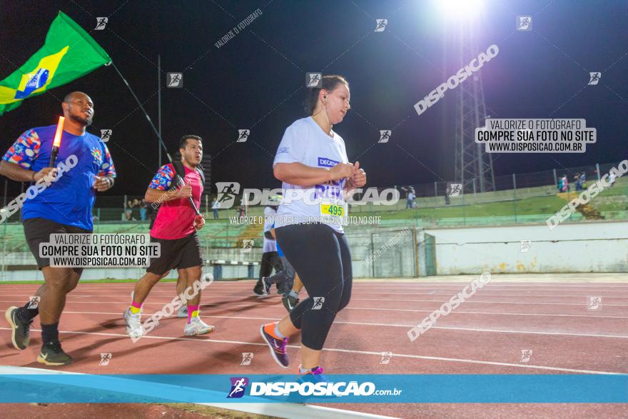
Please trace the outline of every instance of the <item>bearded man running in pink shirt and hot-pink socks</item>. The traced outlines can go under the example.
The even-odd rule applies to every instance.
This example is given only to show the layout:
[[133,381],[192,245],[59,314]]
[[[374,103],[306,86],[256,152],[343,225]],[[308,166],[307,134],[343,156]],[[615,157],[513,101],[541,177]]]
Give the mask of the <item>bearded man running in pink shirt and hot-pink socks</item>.
[[[161,255],[158,258],[151,258],[146,275],[136,283],[133,303],[123,313],[126,332],[132,338],[140,338],[143,335],[142,303],[151,292],[151,288],[171,269],[185,270],[188,287],[201,280],[203,258],[196,230],[203,228],[205,219],[196,215],[189,198],[192,198],[198,208],[203,193],[203,182],[197,168],[203,157],[203,140],[199,136],[183,136],[179,141],[179,151],[185,171],[183,186],[177,184],[177,173],[173,164],[166,164],[161,166],[146,190],[147,202],[161,203],[151,228],[151,242],[160,244]],[[203,335],[216,330],[214,326],[203,323],[199,317],[200,301],[200,291],[188,300],[188,321],[184,330],[186,335]]]

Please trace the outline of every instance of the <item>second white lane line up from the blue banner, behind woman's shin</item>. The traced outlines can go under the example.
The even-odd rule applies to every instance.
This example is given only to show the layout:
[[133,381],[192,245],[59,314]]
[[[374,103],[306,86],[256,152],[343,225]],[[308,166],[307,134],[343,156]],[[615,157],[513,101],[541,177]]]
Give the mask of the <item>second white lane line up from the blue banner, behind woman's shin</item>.
[[[103,311],[64,311],[64,314],[103,314],[103,315],[119,315],[120,313],[109,313]],[[142,314],[150,316],[151,314]],[[171,316],[172,317],[172,316]],[[244,317],[235,315],[202,315],[203,318],[226,318],[234,320],[281,320],[281,318],[271,317]],[[176,317],[172,317],[176,318]],[[355,321],[342,321],[335,320],[334,323],[345,325],[360,325],[360,326],[385,326],[393,328],[412,328],[413,324],[397,324],[397,323],[368,323],[368,322],[355,322]],[[616,338],[616,339],[628,339],[628,335],[599,335],[594,333],[566,333],[566,332],[538,332],[532,330],[498,330],[498,329],[480,329],[480,328],[457,328],[457,327],[443,327],[432,326],[432,329],[442,330],[467,330],[470,332],[485,332],[485,333],[516,333],[516,334],[530,334],[530,335],[559,335],[559,336],[578,336],[585,338]]]

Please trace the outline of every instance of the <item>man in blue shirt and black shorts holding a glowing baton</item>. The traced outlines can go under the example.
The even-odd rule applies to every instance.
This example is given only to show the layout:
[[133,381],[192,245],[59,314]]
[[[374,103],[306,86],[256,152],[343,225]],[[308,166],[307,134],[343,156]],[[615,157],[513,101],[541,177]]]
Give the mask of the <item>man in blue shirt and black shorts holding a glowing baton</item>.
[[0,174],[14,181],[35,183],[42,178],[56,177],[56,181],[49,183],[43,191],[27,196],[22,207],[26,242],[37,267],[44,273],[44,285],[36,292],[40,298],[39,306],[33,307],[29,301],[20,308],[9,307],[5,313],[11,325],[11,341],[19,350],[29,345],[29,327],[39,314],[42,346],[37,362],[45,365],[72,362],[71,356],[61,349],[59,318],[66,294],[76,287],[83,268],[50,266],[50,259],[41,257],[39,244],[49,243],[54,233],[91,233],[91,211],[96,192],[111,188],[116,177],[107,146],[101,138],[86,131],[94,113],[90,97],[74,91],[65,96],[61,106],[65,125],[56,161],[72,161],[74,166],[62,176],[59,176],[58,168],[49,167],[56,125],[29,129],[6,151],[0,162]]

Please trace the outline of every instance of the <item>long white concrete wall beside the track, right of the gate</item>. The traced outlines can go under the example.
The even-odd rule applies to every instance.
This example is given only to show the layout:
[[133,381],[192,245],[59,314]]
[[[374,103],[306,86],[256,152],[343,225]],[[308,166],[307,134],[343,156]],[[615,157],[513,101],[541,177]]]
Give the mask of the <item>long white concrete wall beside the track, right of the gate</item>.
[[[436,238],[438,275],[628,272],[628,222],[426,229]],[[521,241],[532,241],[520,252]]]

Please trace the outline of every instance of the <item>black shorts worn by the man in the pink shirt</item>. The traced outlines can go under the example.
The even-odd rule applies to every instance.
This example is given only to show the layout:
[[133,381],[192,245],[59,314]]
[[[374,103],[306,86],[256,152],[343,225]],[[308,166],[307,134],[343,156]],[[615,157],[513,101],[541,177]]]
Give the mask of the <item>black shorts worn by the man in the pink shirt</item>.
[[203,266],[201,242],[198,240],[196,232],[174,240],[164,240],[151,236],[151,243],[161,244],[161,256],[151,259],[151,265],[146,268],[147,272],[163,275],[174,268]]

